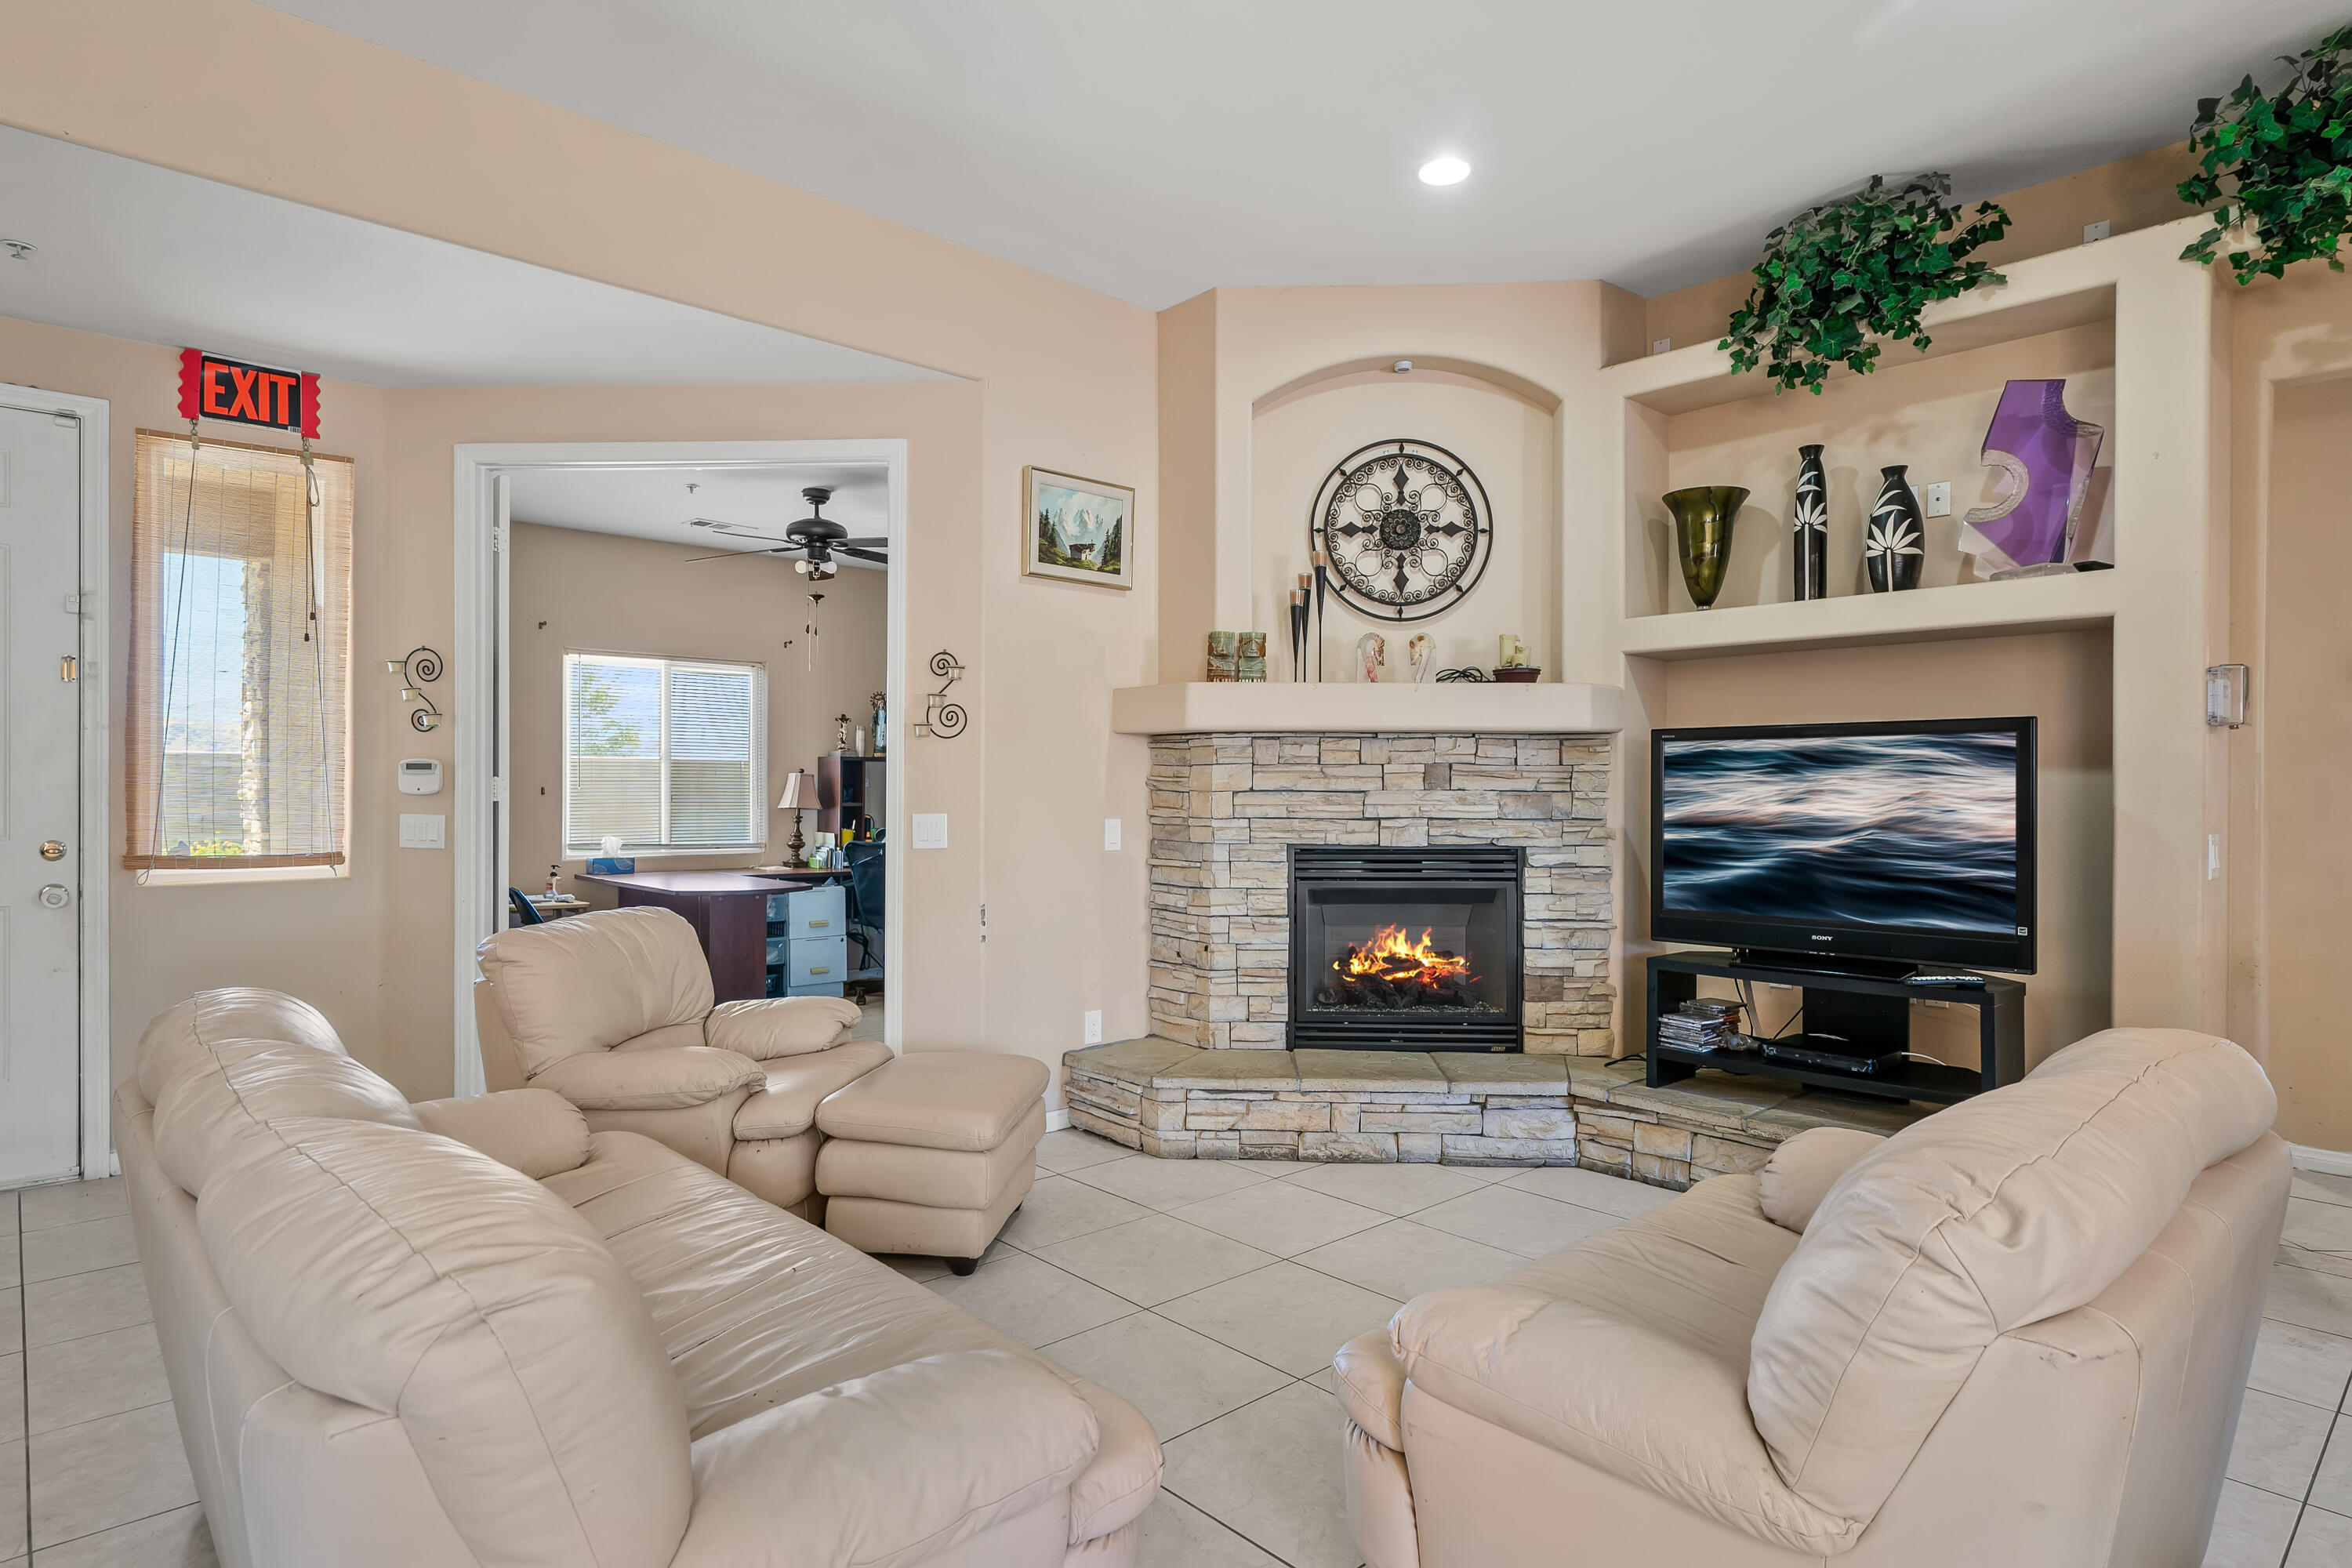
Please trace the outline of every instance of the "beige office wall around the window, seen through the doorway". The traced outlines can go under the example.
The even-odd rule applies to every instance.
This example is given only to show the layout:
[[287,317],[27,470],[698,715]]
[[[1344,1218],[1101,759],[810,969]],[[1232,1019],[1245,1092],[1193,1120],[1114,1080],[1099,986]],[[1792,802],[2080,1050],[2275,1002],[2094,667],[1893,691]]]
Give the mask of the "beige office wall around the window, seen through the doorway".
[[[847,712],[873,729],[873,693],[882,691],[889,632],[889,578],[844,567],[816,592],[821,637],[809,668],[809,578],[788,562],[743,555],[694,562],[708,545],[668,545],[619,534],[515,524],[508,567],[508,745],[513,844],[506,879],[536,893],[550,863],[564,863],[562,886],[609,905],[609,889],[574,884],[583,867],[564,856],[564,654],[647,654],[720,658],[767,670],[767,842],[762,856],[659,856],[644,870],[701,870],[781,860],[793,816],[776,811],[783,776],[816,771]],[[691,562],[691,564],[689,564]],[[802,818],[816,837],[816,818]]]

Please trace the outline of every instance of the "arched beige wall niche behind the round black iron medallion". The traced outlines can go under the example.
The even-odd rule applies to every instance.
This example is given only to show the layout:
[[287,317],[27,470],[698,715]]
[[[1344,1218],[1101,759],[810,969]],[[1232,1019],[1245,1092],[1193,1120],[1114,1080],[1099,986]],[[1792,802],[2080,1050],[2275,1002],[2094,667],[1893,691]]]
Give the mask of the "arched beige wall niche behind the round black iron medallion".
[[[1399,374],[1397,360],[1414,369]],[[1268,632],[1270,679],[1291,679],[1289,588],[1312,571],[1308,517],[1334,465],[1381,440],[1454,451],[1486,489],[1491,555],[1477,588],[1428,621],[1397,623],[1327,602],[1324,679],[1357,679],[1357,639],[1385,642],[1383,682],[1411,679],[1406,642],[1435,639],[1435,668],[1496,663],[1517,635],[1534,663],[1559,668],[1559,409],[1512,371],[1442,355],[1381,355],[1308,371],[1249,404],[1249,611]],[[1308,656],[1312,668],[1312,654]]]

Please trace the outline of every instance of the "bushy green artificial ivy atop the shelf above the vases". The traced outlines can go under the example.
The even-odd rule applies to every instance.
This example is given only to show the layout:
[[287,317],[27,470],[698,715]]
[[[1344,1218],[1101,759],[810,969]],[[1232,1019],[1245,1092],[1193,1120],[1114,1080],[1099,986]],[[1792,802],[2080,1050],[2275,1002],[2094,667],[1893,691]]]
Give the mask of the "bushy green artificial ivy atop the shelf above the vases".
[[1731,313],[1731,369],[1762,364],[1776,390],[1811,388],[1832,364],[1870,374],[1886,339],[1926,348],[1919,310],[2002,282],[1978,247],[2009,233],[1994,202],[1962,221],[1950,174],[1889,186],[1884,174],[1764,237],[1748,303]]

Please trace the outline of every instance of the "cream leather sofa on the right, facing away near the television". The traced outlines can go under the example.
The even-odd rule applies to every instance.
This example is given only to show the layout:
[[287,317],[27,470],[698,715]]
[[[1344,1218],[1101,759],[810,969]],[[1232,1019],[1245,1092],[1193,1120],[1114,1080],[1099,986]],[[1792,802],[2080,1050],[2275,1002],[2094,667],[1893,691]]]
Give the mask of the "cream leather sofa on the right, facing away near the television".
[[1811,1131],[1338,1354],[1369,1568],[2197,1568],[2286,1211],[2230,1041]]

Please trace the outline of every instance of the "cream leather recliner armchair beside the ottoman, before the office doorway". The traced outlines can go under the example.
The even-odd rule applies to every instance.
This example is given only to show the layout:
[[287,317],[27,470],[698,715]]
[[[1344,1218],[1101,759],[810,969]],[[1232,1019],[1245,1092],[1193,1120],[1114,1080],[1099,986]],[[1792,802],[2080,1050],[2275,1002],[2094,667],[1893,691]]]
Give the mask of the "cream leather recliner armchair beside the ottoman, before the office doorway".
[[889,1046],[849,1039],[854,1001],[710,1006],[694,926],[652,907],[499,931],[475,959],[492,1088],[553,1088],[600,1133],[644,1133],[823,1222],[816,1107],[891,1060]]

